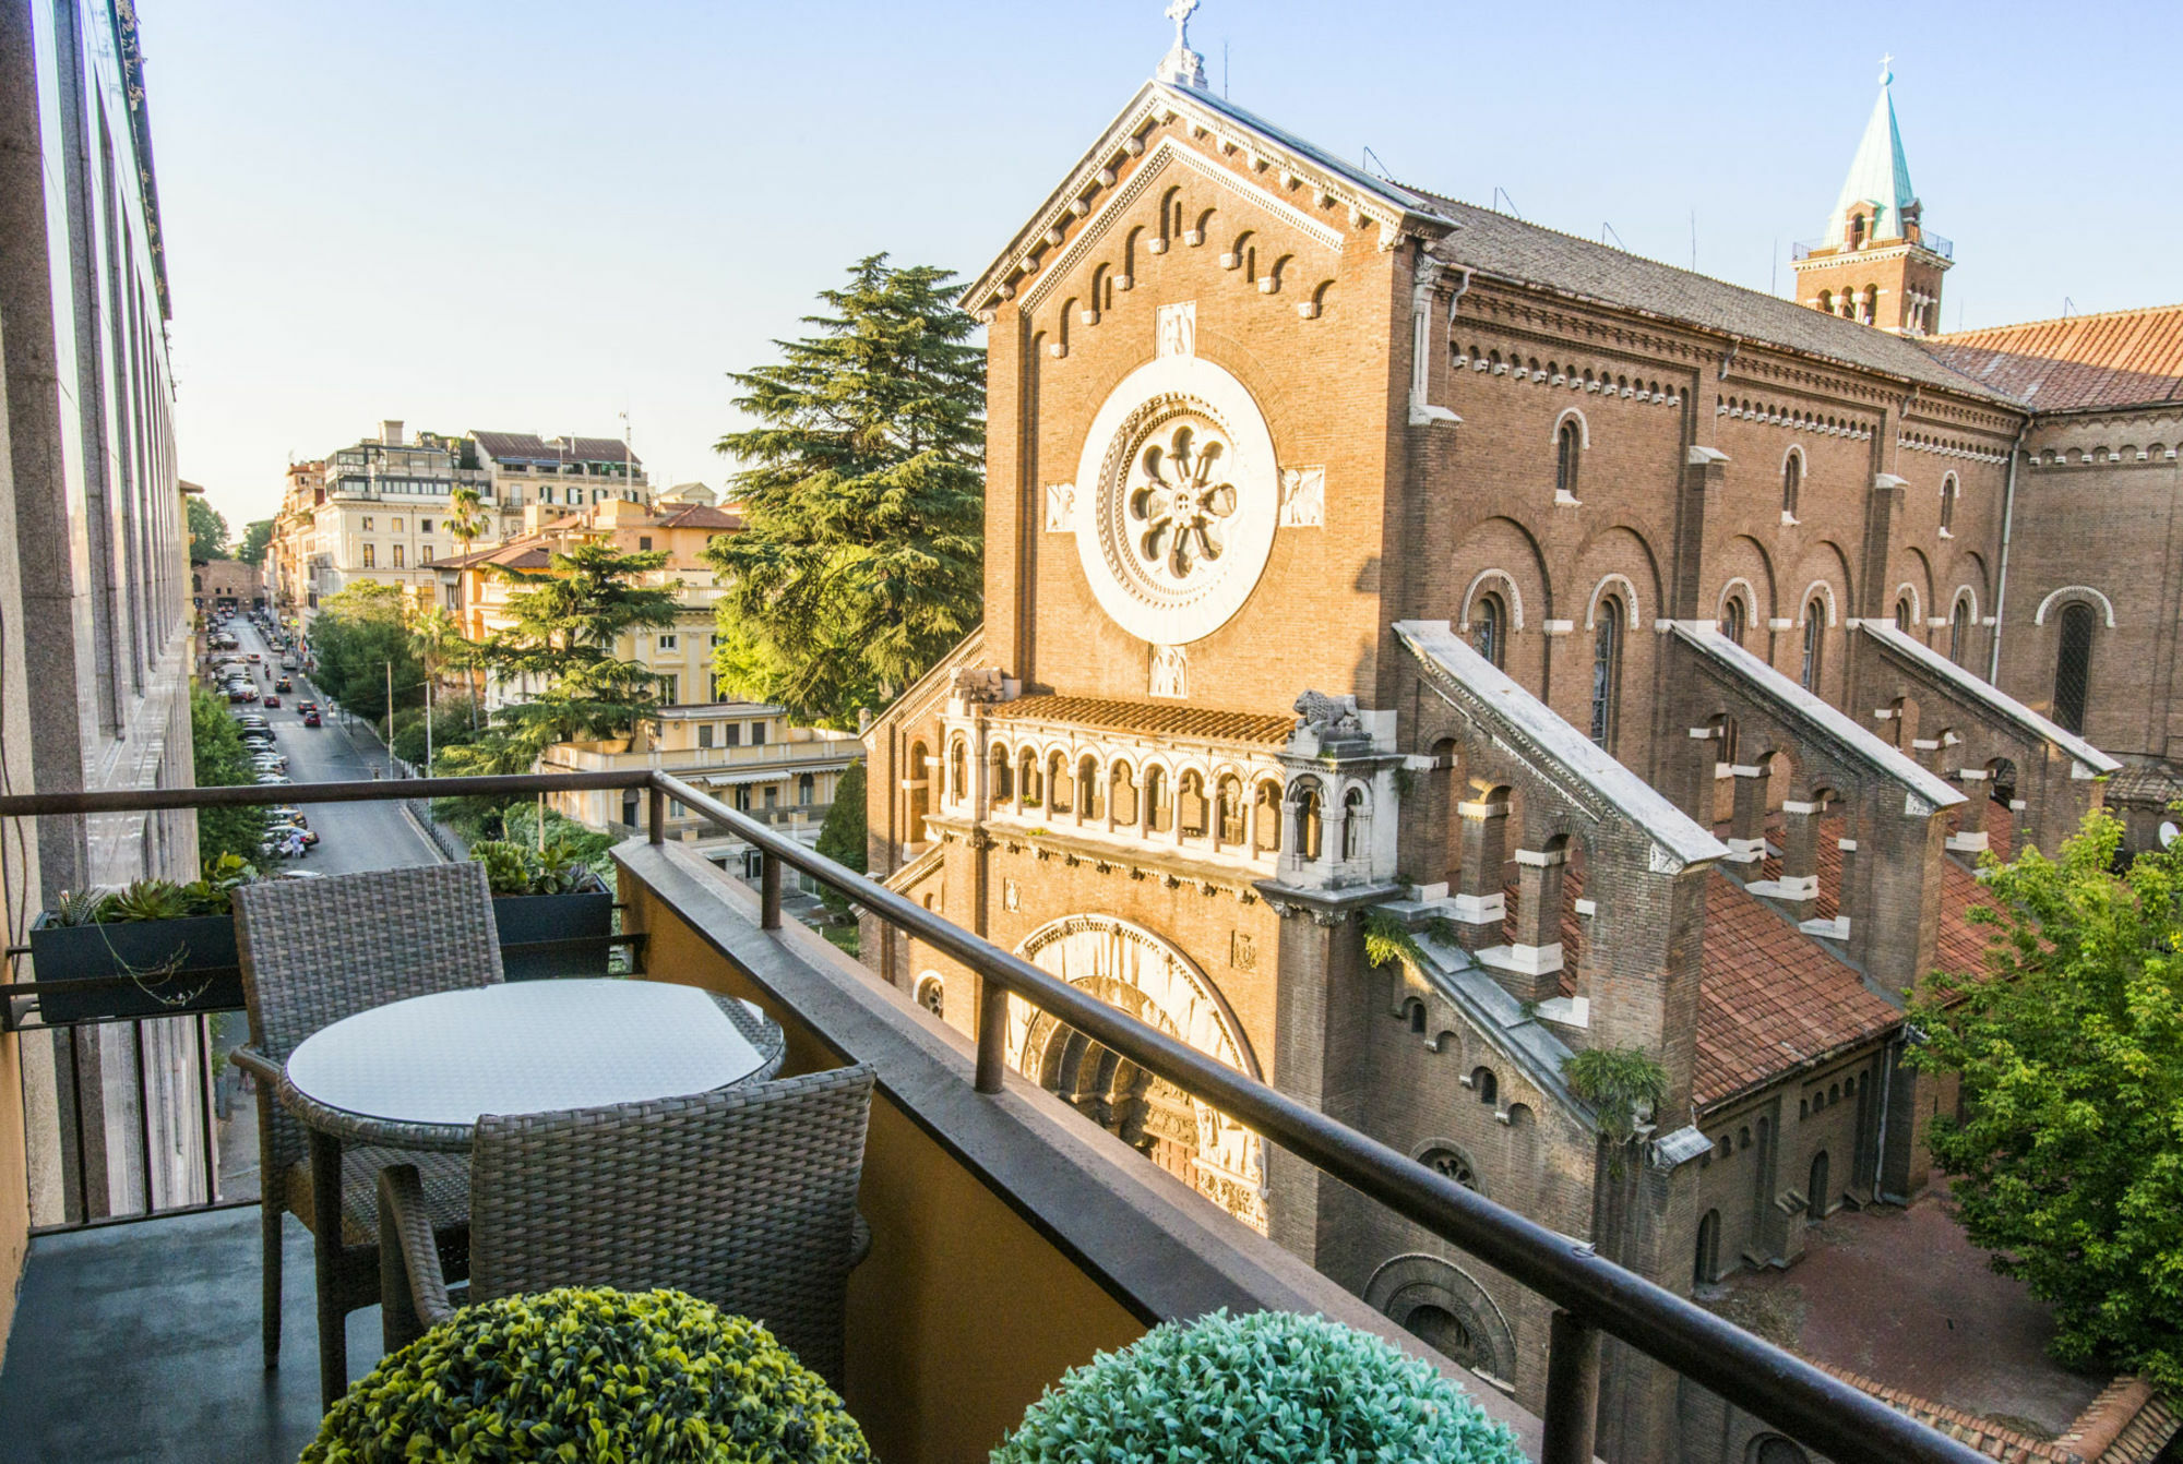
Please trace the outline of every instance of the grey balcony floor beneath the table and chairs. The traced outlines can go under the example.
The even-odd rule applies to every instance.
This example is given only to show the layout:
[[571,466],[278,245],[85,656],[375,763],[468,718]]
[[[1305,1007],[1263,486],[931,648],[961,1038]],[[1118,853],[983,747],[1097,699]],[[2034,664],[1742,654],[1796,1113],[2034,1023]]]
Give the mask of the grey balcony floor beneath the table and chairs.
[[[282,1366],[258,1355],[253,1207],[31,1241],[0,1368],[0,1464],[293,1464],[319,1429],[310,1235],[286,1237]],[[349,1316],[349,1377],[380,1357]]]

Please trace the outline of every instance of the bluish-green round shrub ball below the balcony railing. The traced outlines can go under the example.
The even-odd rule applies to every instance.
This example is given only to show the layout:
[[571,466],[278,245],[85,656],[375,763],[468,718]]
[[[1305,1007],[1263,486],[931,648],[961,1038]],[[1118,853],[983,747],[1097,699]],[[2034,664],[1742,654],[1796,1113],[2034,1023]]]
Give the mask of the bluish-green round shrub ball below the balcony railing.
[[1155,1327],[1030,1405],[993,1464],[1522,1464],[1432,1366],[1295,1311]]

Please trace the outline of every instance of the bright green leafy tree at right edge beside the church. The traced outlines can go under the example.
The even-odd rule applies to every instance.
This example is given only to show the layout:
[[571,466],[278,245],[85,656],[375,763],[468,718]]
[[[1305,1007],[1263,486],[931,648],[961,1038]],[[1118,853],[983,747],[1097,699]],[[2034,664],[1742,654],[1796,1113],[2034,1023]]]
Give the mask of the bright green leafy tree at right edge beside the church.
[[2113,873],[2102,812],[1984,873],[1984,975],[1936,975],[1910,1060],[1963,1080],[1932,1156],[1965,1233],[2054,1307],[2054,1355],[2183,1388],[2183,840]]

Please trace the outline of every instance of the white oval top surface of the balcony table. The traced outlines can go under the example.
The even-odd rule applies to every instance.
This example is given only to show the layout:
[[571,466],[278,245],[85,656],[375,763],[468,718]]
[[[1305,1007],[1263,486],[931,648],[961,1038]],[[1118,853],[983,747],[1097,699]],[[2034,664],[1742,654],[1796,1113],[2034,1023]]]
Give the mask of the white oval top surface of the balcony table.
[[762,1065],[696,986],[559,980],[441,991],[345,1017],[288,1054],[288,1082],[330,1108],[393,1124],[476,1124],[482,1113],[709,1093]]

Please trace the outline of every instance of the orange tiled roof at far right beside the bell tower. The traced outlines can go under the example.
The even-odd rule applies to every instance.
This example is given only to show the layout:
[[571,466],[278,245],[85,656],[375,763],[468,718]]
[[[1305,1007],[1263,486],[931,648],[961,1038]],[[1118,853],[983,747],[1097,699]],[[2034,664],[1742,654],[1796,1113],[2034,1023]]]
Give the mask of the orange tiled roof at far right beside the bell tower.
[[2183,305],[1967,329],[1925,349],[2039,412],[2183,401]]

